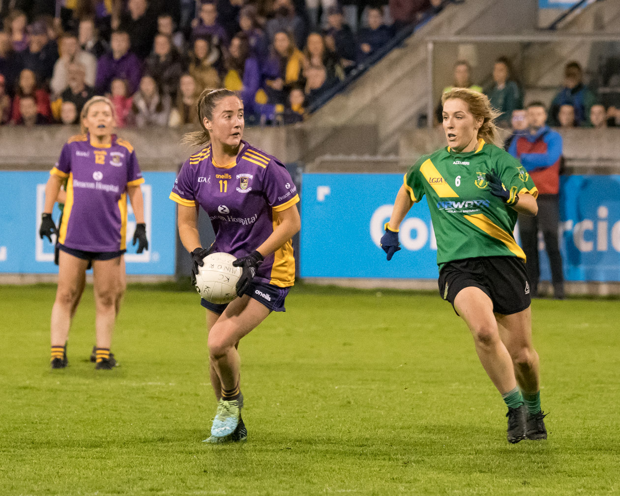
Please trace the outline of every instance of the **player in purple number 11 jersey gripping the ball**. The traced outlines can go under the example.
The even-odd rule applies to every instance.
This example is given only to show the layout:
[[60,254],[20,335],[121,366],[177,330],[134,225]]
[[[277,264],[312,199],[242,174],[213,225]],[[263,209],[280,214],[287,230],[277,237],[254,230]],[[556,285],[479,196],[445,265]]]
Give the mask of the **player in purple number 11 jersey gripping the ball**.
[[[272,311],[285,311],[295,278],[291,237],[301,227],[299,195],[278,159],[243,141],[243,102],[234,92],[203,91],[198,116],[202,131],[188,139],[203,149],[183,164],[170,199],[179,204],[179,236],[192,255],[193,273],[210,252],[232,254],[233,265],[242,267],[239,298],[227,305],[200,303],[207,310],[210,379],[218,399],[205,441],[245,441],[237,346]],[[210,249],[200,244],[198,206],[215,231]]]

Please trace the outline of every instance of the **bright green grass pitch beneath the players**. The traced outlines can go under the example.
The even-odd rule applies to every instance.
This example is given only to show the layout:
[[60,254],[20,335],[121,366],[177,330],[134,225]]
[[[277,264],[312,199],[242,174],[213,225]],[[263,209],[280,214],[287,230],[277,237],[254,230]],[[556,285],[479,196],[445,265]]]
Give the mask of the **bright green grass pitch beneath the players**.
[[620,491],[620,304],[538,300],[549,440],[505,408],[436,294],[295,288],[241,343],[244,446],[208,446],[204,310],[130,286],[113,351],[87,362],[92,288],[48,368],[53,286],[0,286],[0,495],[603,495]]

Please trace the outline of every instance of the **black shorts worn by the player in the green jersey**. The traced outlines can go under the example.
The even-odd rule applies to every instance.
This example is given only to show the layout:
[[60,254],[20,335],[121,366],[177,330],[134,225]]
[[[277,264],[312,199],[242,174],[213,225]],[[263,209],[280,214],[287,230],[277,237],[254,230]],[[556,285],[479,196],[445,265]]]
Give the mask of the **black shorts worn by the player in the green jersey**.
[[441,267],[438,283],[441,298],[449,301],[452,308],[459,291],[470,286],[484,291],[498,314],[516,314],[531,304],[525,263],[516,257],[453,260]]

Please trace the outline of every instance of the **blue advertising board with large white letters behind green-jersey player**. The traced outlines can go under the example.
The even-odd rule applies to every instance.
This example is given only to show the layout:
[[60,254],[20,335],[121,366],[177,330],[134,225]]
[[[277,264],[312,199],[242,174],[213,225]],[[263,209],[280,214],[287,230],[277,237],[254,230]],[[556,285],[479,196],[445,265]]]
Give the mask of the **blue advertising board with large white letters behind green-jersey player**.
[[[436,278],[436,240],[426,201],[405,217],[402,250],[391,262],[379,247],[401,184],[400,174],[304,174],[301,277]],[[560,197],[565,278],[620,281],[620,175],[562,178]],[[544,253],[540,263],[541,278],[548,280]]]

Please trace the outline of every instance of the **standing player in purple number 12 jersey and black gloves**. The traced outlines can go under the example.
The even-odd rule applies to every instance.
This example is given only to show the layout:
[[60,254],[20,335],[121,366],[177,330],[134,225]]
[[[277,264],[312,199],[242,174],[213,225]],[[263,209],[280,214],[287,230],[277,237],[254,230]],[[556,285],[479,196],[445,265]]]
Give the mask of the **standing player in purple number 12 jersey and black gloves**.
[[[45,187],[45,206],[39,234],[58,236],[58,290],[51,311],[51,367],[67,366],[66,341],[73,314],[92,263],[95,293],[95,368],[117,365],[110,353],[112,332],[125,291],[125,239],[127,197],[136,216],[133,244],[138,253],[148,249],[144,224],[144,182],[133,147],[114,135],[114,110],[110,100],[93,97],[81,115],[82,135],[63,146]],[[64,180],[66,200],[60,228],[51,211]]]

